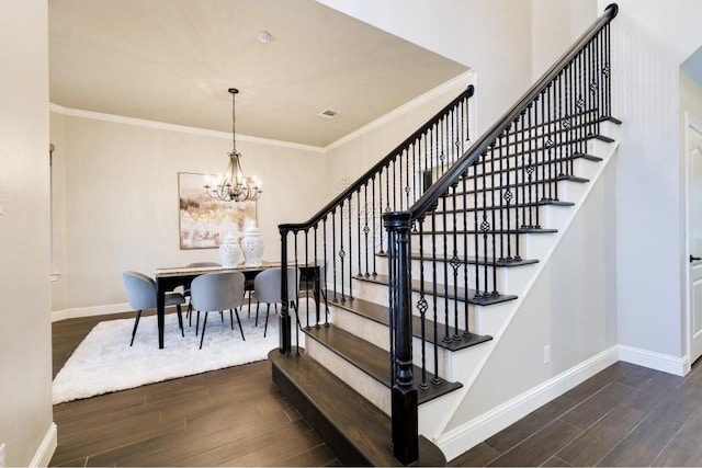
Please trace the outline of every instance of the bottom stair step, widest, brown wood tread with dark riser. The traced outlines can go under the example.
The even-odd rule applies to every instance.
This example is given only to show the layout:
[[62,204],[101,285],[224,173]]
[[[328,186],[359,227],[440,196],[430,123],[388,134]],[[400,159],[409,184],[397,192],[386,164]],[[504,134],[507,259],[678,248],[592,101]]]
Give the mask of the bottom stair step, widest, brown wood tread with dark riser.
[[[390,419],[304,350],[269,353],[273,381],[348,466],[401,466],[390,450]],[[419,437],[415,466],[445,466],[443,453]]]

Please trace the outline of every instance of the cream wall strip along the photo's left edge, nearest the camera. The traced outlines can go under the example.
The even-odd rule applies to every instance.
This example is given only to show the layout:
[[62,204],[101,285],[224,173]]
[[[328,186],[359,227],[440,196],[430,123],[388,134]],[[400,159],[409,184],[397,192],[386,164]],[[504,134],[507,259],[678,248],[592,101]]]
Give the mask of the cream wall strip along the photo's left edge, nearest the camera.
[[0,2],[0,445],[47,464],[52,422],[48,37],[45,0]]

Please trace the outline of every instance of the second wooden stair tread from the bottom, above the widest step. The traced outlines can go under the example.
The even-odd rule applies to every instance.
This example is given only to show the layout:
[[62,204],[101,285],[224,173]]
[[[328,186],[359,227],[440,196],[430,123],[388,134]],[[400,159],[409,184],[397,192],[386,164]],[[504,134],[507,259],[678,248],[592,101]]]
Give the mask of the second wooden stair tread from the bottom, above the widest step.
[[[321,343],[327,349],[333,351],[339,356],[343,357],[346,361],[383,384],[388,388],[388,390],[390,389],[390,353],[387,351],[333,324],[312,327],[309,329],[303,329],[303,332],[308,338]],[[419,388],[419,384],[421,383],[421,368],[418,366],[414,367],[415,385],[418,387],[417,400],[419,404],[426,403],[427,401],[433,400],[434,398],[463,387],[460,383],[450,383],[441,377],[437,377],[437,385],[433,385],[431,383],[434,379],[434,375],[428,372],[426,379],[427,383],[429,383],[429,386],[426,389],[421,389]]]

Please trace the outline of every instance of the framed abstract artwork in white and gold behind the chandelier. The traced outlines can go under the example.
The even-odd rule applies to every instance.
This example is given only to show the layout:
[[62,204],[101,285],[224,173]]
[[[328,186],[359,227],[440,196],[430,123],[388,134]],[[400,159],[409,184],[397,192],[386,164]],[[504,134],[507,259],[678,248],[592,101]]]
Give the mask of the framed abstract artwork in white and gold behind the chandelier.
[[256,202],[220,202],[205,191],[205,174],[178,173],[180,248],[215,249],[229,232],[244,236],[256,222]]

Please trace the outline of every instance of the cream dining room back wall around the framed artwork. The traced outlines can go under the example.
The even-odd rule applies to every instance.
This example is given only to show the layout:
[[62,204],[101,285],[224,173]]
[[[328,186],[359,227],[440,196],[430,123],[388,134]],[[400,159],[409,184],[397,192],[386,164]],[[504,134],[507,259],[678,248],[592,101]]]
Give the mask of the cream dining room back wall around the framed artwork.
[[[180,250],[178,172],[224,171],[229,134],[58,111],[66,115],[52,115],[56,175],[64,178],[55,187],[55,311],[71,316],[126,303],[124,270],[152,274],[157,267],[218,261],[216,249]],[[262,181],[263,256],[276,261],[278,225],[303,220],[325,203],[324,153],[244,137],[237,149],[245,172]]]

